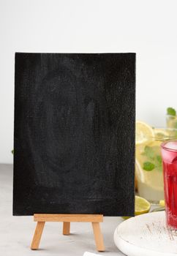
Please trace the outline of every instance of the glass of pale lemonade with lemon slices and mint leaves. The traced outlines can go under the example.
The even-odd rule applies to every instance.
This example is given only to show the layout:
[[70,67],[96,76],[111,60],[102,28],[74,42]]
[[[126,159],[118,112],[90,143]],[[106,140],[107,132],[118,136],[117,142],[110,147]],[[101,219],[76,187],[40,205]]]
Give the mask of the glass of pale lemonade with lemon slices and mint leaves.
[[135,175],[138,194],[151,203],[164,199],[162,156],[160,145],[177,138],[176,129],[154,128],[136,122]]

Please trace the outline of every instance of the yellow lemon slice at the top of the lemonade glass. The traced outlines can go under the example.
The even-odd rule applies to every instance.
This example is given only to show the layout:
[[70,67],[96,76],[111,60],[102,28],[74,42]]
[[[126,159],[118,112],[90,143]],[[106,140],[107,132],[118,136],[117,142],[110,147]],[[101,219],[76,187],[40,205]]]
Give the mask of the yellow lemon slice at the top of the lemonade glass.
[[152,127],[143,121],[136,121],[136,145],[144,143],[147,140],[152,140],[154,138],[154,131]]

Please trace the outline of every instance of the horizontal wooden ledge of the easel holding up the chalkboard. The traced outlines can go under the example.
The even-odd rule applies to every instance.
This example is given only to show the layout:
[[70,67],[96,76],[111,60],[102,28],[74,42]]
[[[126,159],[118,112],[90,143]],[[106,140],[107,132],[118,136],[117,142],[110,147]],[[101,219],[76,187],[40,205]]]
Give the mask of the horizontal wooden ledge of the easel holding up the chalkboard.
[[102,214],[34,214],[34,222],[103,222]]

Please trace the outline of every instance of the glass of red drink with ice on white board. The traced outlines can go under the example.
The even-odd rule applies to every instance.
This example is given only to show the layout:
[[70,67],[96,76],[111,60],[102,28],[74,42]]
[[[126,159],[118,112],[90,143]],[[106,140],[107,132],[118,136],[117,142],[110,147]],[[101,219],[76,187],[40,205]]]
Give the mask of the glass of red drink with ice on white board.
[[177,140],[162,143],[167,227],[177,231]]

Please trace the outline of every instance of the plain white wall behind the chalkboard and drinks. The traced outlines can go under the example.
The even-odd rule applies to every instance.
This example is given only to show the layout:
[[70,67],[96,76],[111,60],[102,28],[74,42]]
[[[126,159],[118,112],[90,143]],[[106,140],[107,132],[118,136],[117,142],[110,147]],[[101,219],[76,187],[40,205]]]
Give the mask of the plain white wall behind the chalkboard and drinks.
[[137,53],[137,118],[177,109],[177,1],[0,0],[0,162],[12,162],[14,55]]

